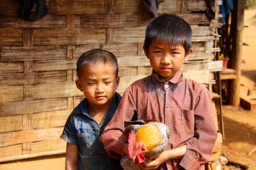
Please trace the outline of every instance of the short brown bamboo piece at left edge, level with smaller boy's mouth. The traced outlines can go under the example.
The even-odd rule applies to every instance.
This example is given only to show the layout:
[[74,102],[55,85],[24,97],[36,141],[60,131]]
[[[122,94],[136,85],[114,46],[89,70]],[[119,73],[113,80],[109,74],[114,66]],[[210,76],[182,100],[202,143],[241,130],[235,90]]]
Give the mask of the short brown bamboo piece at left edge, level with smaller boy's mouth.
[[23,86],[0,86],[0,102],[23,100]]

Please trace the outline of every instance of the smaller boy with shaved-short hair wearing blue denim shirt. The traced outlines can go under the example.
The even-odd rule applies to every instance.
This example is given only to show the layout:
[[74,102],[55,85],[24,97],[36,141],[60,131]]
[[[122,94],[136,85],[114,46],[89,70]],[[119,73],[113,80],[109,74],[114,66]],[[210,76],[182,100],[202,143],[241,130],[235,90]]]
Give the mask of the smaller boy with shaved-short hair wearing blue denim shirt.
[[89,50],[77,59],[76,87],[84,93],[69,115],[60,138],[67,142],[65,169],[122,169],[98,140],[112,118],[121,96],[118,63],[114,54]]

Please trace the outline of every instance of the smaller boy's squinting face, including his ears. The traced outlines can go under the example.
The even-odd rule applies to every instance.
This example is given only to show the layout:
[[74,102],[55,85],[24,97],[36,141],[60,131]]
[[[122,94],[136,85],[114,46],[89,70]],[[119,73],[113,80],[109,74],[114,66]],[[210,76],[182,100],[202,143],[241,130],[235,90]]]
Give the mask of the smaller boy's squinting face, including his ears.
[[109,107],[118,85],[119,77],[117,78],[112,63],[84,66],[81,77],[76,80],[77,88],[84,92],[91,107],[97,105]]

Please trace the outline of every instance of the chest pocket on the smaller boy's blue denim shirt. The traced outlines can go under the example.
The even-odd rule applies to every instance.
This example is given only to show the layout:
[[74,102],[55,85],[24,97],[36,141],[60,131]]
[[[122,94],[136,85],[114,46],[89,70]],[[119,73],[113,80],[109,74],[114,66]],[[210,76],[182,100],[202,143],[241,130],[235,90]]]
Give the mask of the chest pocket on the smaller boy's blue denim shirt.
[[87,154],[93,150],[93,145],[96,145],[96,134],[93,130],[87,130],[85,133],[77,134],[80,151],[82,154]]

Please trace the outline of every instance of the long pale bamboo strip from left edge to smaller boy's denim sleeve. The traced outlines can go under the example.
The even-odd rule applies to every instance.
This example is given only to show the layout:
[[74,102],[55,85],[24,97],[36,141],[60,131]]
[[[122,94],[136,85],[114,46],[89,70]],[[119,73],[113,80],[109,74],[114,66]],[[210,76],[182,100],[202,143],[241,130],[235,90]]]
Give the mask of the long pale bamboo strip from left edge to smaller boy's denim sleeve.
[[63,127],[36,130],[11,131],[0,134],[0,147],[27,142],[52,141],[59,139]]

